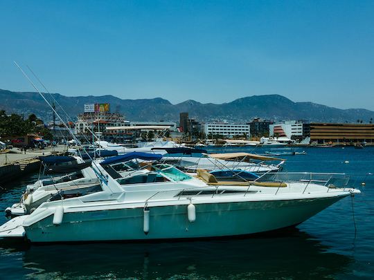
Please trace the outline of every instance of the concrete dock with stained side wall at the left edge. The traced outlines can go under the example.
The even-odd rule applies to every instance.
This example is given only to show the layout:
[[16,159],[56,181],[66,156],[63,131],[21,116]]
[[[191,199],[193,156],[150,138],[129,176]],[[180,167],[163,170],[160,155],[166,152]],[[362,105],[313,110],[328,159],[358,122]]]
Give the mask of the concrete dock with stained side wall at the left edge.
[[30,149],[26,153],[17,148],[3,151],[0,153],[0,185],[37,171],[40,167],[39,156],[62,155],[66,151],[67,147],[64,145]]

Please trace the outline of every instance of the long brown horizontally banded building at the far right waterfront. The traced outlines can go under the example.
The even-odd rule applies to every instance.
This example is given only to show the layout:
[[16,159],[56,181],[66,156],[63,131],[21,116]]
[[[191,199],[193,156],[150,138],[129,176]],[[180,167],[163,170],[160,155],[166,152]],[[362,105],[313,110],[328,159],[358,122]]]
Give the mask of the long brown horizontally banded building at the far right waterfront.
[[353,144],[374,142],[374,124],[311,123],[310,142],[316,144]]

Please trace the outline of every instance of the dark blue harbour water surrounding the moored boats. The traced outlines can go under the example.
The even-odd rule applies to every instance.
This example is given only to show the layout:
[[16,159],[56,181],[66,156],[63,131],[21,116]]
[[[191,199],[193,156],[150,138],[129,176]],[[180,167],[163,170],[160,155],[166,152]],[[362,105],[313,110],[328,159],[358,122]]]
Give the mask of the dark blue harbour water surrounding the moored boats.
[[[256,148],[261,153],[269,149]],[[290,148],[273,149],[287,151]],[[302,151],[303,149],[299,149]],[[373,279],[374,148],[305,148],[287,171],[344,172],[361,187],[296,229],[242,239],[163,243],[10,245],[0,243],[0,279]],[[215,149],[253,151],[253,148]],[[346,160],[348,164],[344,163]],[[37,175],[7,185],[0,210]],[[0,223],[6,221],[0,212]]]

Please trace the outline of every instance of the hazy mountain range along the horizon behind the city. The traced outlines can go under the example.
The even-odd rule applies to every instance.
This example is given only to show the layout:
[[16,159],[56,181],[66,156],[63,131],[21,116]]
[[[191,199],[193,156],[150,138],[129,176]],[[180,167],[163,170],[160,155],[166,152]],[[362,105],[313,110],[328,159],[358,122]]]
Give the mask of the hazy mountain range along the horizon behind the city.
[[[112,112],[125,115],[127,120],[159,121],[179,120],[179,113],[188,112],[190,118],[201,121],[226,120],[247,122],[255,117],[271,120],[310,120],[312,122],[368,122],[374,112],[366,109],[337,109],[312,102],[292,102],[282,95],[253,95],[224,104],[202,104],[187,100],[171,104],[162,98],[123,100],[113,95],[69,97],[52,94],[71,118],[82,113],[84,104],[109,103]],[[47,100],[51,96],[45,95]],[[29,115],[35,113],[44,121],[52,119],[51,109],[38,93],[13,92],[0,89],[0,109],[8,113]],[[57,111],[62,112],[57,106]],[[64,115],[62,113],[62,115]]]

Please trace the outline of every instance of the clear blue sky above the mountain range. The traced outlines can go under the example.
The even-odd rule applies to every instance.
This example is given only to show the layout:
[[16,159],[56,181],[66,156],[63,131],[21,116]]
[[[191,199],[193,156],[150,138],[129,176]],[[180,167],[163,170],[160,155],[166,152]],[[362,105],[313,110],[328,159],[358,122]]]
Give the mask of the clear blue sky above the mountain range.
[[374,111],[374,1],[0,0],[0,88]]

